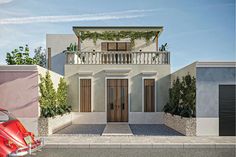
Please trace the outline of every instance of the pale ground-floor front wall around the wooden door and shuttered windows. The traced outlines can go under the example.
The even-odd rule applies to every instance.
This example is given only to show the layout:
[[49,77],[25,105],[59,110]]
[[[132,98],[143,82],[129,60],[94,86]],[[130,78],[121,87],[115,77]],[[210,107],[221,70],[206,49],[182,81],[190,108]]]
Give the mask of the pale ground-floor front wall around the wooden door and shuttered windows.
[[[127,76],[107,76],[104,72],[105,69],[130,69],[130,72]],[[156,114],[142,112],[142,78],[148,77],[142,74],[144,71],[155,71],[157,73],[156,76],[151,76],[151,78],[156,78]],[[65,78],[69,84],[69,101],[74,112],[79,111],[79,78],[84,77],[79,76],[81,72],[93,73],[93,76],[90,76],[92,77],[93,88],[92,112],[102,112],[106,117],[106,77],[123,77],[129,79],[129,110],[132,113],[130,122],[137,123],[137,117],[143,117],[138,118],[140,123],[154,123],[154,121],[156,121],[155,123],[162,123],[162,114],[158,113],[162,112],[163,106],[168,101],[170,65],[65,65]],[[93,116],[94,114],[78,114],[78,117],[86,118],[88,115]]]

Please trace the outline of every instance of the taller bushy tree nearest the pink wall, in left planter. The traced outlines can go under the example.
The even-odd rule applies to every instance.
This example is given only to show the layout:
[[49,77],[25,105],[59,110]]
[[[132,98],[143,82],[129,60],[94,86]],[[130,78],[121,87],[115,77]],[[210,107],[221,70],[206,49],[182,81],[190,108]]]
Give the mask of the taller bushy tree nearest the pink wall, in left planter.
[[56,91],[53,87],[50,73],[47,71],[45,77],[40,75],[40,107],[42,117],[54,117],[56,113]]

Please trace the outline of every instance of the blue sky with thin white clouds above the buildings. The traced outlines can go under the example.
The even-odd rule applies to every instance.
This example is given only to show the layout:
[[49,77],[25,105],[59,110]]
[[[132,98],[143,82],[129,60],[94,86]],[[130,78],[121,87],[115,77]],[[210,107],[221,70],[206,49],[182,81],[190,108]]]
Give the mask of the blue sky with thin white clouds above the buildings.
[[45,47],[72,26],[163,26],[172,71],[194,61],[235,61],[235,0],[0,0],[0,64],[19,45]]

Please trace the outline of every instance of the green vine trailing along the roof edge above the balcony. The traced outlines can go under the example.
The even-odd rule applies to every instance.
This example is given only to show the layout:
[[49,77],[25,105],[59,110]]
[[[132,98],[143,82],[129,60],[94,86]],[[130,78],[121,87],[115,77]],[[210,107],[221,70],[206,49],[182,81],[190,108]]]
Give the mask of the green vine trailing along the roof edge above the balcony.
[[146,43],[148,44],[152,37],[156,36],[155,31],[149,32],[135,32],[135,31],[105,31],[102,33],[98,32],[90,32],[90,31],[81,31],[80,32],[80,39],[84,41],[85,39],[92,39],[94,44],[98,39],[100,40],[120,40],[124,38],[130,38],[131,46],[134,47],[134,41],[136,39],[145,39]]

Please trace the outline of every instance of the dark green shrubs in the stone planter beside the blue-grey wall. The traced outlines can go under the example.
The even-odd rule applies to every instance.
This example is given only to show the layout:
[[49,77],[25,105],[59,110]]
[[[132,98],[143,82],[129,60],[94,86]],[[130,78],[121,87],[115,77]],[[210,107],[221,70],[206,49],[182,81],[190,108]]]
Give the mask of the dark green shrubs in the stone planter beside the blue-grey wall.
[[164,112],[182,117],[196,116],[196,80],[189,74],[177,77],[169,89],[169,102],[164,106]]

